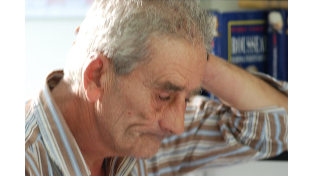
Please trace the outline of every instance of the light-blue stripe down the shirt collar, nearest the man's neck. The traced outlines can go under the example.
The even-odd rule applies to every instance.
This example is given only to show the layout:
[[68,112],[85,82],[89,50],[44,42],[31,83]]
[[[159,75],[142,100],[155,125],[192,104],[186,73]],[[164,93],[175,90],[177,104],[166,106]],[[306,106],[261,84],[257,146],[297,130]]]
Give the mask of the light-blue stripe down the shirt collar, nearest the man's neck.
[[57,115],[57,113],[56,113],[56,111],[54,109],[54,106],[53,106],[52,101],[50,99],[50,96],[48,94],[47,87],[44,87],[43,93],[44,93],[44,96],[45,96],[45,98],[47,100],[47,105],[49,107],[49,110],[51,111],[53,120],[54,120],[54,122],[55,122],[55,124],[56,124],[56,126],[58,128],[59,133],[60,133],[60,137],[61,137],[61,139],[62,139],[62,141],[64,143],[64,147],[65,147],[65,149],[66,149],[66,151],[67,151],[67,153],[69,155],[70,161],[71,161],[72,166],[74,168],[75,175],[81,175],[80,169],[79,169],[78,164],[76,162],[76,159],[74,157],[73,151],[72,151],[72,149],[71,149],[71,147],[69,145],[69,142],[68,142],[68,140],[66,138],[65,132],[64,132],[63,127],[62,127],[62,124],[61,124],[61,122],[59,120],[59,117],[58,117],[58,115]]

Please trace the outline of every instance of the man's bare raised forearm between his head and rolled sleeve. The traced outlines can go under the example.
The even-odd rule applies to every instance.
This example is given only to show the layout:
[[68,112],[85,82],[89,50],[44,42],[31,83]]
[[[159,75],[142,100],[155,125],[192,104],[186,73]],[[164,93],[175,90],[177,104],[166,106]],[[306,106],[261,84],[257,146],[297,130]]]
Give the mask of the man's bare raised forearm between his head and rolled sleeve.
[[238,110],[281,106],[288,112],[288,97],[247,71],[210,54],[203,88]]

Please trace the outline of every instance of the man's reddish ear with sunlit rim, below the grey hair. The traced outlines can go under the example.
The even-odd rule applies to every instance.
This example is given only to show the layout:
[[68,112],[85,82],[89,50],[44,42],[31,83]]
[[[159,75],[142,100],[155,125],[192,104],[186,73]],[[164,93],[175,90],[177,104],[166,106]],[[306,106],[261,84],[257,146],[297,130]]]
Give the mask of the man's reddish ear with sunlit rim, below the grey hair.
[[109,59],[102,53],[90,53],[82,70],[84,91],[90,102],[96,102],[103,88],[101,87],[101,76],[109,69]]

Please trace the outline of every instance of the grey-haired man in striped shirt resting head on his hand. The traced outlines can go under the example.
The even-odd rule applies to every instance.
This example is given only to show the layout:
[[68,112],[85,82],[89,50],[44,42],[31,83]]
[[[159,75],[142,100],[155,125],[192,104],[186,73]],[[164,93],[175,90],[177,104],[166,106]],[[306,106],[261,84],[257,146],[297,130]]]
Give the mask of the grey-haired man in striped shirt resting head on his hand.
[[176,175],[286,150],[284,84],[208,54],[213,28],[194,2],[95,1],[26,103],[26,175]]

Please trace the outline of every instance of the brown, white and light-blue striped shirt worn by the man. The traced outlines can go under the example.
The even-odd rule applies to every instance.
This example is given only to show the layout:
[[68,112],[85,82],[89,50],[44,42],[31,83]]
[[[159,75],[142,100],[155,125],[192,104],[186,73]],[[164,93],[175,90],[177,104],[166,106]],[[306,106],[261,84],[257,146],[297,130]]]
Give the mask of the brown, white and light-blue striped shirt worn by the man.
[[[26,175],[90,175],[80,149],[58,109],[53,88],[63,72],[51,73],[38,96],[25,104]],[[288,83],[257,74],[288,96]],[[270,158],[288,150],[288,114],[282,107],[238,111],[195,96],[187,104],[185,131],[162,141],[150,159],[105,158],[106,175],[183,175]]]

